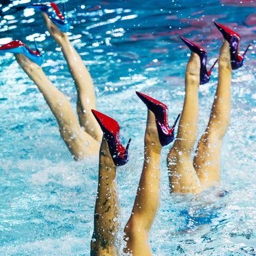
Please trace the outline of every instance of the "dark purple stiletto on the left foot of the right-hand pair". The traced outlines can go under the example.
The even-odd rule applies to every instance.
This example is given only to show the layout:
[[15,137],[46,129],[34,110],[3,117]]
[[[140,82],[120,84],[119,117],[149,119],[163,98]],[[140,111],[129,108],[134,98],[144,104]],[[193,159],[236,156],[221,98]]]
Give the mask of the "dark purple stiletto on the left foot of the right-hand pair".
[[206,62],[207,62],[207,51],[204,48],[200,47],[199,45],[193,43],[189,39],[184,38],[181,36],[181,40],[189,47],[190,51],[196,53],[200,57],[200,85],[204,85],[205,83],[209,82],[210,76],[212,73],[212,69],[217,63],[218,59],[215,60],[212,67],[207,71]]

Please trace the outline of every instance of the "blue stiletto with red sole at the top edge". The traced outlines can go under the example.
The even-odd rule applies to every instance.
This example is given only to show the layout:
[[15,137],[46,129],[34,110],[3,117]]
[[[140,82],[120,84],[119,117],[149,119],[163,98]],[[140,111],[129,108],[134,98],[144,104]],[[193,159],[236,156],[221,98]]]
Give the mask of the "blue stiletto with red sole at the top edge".
[[49,19],[61,30],[62,32],[67,32],[70,29],[70,22],[67,19],[67,13],[64,8],[64,12],[60,12],[57,4],[54,2],[46,2],[44,4],[36,3],[27,6],[27,8],[34,8],[40,12],[45,12]]

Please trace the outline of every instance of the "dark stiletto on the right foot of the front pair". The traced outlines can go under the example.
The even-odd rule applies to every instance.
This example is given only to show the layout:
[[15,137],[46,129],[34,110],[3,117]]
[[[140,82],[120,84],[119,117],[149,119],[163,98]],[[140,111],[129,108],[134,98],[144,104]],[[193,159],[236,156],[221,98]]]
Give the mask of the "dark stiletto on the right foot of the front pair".
[[139,93],[136,91],[136,94],[139,96],[139,99],[146,104],[147,108],[151,110],[155,114],[155,122],[157,123],[157,131],[159,134],[159,141],[162,146],[167,146],[170,144],[174,139],[174,131],[176,123],[180,118],[180,114],[175,120],[172,128],[168,125],[168,107],[167,105],[163,104],[152,97],[147,96],[144,93]]

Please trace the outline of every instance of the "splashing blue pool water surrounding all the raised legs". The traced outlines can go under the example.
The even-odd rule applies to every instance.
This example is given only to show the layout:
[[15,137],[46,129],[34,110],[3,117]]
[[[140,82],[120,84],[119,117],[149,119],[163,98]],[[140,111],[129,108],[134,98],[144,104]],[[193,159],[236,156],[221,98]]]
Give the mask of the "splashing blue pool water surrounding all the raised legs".
[[[244,67],[233,75],[220,187],[199,196],[170,196],[165,160],[171,146],[166,147],[151,246],[159,256],[256,255],[256,1],[73,0],[67,9],[73,21],[70,39],[94,78],[98,109],[120,122],[125,141],[133,138],[130,162],[117,177],[122,226],[130,216],[143,159],[146,107],[134,91],[165,102],[172,122],[182,109],[189,54],[180,35],[203,42],[209,64],[221,45],[213,20],[237,27],[241,50],[252,43]],[[45,72],[75,108],[72,78],[40,15],[1,16],[0,44],[21,39],[33,46],[36,36],[45,51]],[[0,255],[89,255],[97,157],[74,162],[36,86],[11,55],[0,56],[0,64]],[[217,68],[210,83],[200,86],[199,136],[216,84]],[[228,194],[217,197],[223,189]]]

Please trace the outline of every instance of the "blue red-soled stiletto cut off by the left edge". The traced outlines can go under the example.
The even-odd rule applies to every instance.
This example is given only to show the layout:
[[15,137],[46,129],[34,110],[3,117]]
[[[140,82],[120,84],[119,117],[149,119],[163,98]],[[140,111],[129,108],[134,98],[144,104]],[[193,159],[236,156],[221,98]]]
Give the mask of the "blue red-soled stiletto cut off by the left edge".
[[[36,42],[35,42],[36,45]],[[14,54],[20,53],[28,57],[31,61],[35,62],[35,64],[41,66],[43,64],[44,57],[39,51],[36,45],[36,51],[32,51],[26,44],[22,43],[22,41],[15,40],[7,44],[3,44],[0,46],[0,52],[11,52]]]

